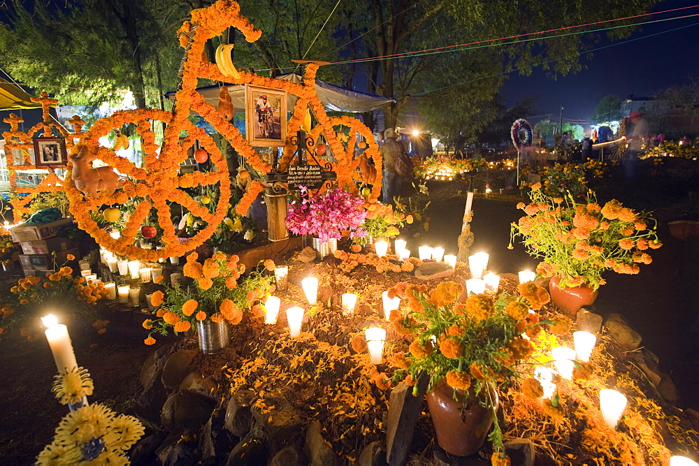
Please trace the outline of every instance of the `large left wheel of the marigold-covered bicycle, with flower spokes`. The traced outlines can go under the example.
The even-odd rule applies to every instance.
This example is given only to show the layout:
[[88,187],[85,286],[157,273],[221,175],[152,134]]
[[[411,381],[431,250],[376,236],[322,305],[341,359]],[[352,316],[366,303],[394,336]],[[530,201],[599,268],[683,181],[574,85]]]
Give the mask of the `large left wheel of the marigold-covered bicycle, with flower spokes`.
[[[166,127],[162,147],[156,143],[152,130],[154,121],[170,125]],[[136,134],[140,136],[143,168],[99,143],[99,138],[129,123],[134,124]],[[171,123],[173,115],[163,110],[115,112],[97,120],[69,155],[70,170],[66,175],[69,210],[78,226],[111,252],[145,261],[183,256],[208,240],[226,216],[231,180],[226,161],[214,140],[187,119],[178,118],[177,127]],[[184,138],[182,134],[185,134]],[[180,164],[188,158],[187,151],[197,142],[208,152],[210,168],[180,175]],[[95,160],[106,166],[93,166]],[[208,196],[195,200],[199,196],[185,191],[197,187],[216,191],[215,202]],[[103,206],[127,202],[133,203],[135,208],[122,228],[120,238],[112,238],[97,224],[95,214]],[[177,237],[177,226],[171,212],[188,212],[199,224],[206,226],[183,242]],[[156,238],[161,243],[159,249],[145,249],[138,245],[138,233],[141,226],[147,225],[149,217],[156,217],[161,228]]]

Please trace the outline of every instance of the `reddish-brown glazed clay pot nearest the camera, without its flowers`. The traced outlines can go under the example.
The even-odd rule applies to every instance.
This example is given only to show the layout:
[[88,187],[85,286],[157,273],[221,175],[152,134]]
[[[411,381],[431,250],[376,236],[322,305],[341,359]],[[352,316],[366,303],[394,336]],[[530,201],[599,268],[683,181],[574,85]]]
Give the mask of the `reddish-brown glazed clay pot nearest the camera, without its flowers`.
[[[483,446],[493,425],[494,412],[498,409],[498,394],[489,386],[494,408],[480,405],[487,395],[475,398],[473,387],[469,391],[456,390],[441,381],[427,393],[427,406],[437,434],[437,442],[444,451],[455,456],[470,456]],[[454,400],[456,392],[456,400]]]

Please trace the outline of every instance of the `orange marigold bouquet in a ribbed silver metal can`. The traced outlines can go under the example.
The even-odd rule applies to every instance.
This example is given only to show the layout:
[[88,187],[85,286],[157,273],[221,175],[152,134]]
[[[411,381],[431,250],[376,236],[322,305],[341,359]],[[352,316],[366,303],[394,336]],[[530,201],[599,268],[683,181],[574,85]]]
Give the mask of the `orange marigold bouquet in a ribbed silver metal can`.
[[[165,291],[155,291],[151,304],[158,319],[147,319],[143,327],[152,330],[145,344],[154,344],[153,333],[167,335],[194,328],[199,337],[199,349],[205,354],[220,351],[229,342],[229,326],[243,320],[243,311],[252,303],[248,291],[264,295],[271,287],[271,277],[253,272],[241,279],[245,265],[238,256],[216,252],[200,263],[196,252],[187,256],[182,272],[194,281],[191,286],[175,283]],[[257,296],[257,295],[256,295]]]

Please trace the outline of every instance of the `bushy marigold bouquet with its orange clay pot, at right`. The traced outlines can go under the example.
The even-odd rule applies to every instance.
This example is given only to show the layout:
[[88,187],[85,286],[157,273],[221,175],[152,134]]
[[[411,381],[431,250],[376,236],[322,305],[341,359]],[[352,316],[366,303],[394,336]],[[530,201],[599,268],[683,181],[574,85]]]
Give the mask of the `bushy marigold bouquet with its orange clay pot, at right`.
[[600,206],[592,191],[584,203],[570,194],[550,197],[540,183],[530,196],[531,203],[517,205],[526,217],[512,224],[511,238],[521,236],[527,252],[542,259],[537,272],[551,278],[552,301],[570,316],[593,303],[603,272],[635,275],[639,264],[651,263],[649,249],[661,247],[651,215],[619,201]]

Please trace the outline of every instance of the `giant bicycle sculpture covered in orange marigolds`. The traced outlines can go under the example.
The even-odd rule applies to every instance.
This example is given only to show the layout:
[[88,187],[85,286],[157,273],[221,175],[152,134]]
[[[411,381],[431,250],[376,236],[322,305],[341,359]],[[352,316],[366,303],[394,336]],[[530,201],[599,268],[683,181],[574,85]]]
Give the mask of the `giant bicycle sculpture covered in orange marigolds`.
[[[217,108],[206,103],[203,96],[196,92],[198,78],[283,89],[288,94],[296,96],[298,100],[288,122],[288,133],[295,135],[296,131],[301,129],[304,119],[308,126],[307,112],[309,110],[312,112],[317,124],[310,129],[308,136],[318,140],[322,135],[328,143],[329,151],[325,154],[325,161],[322,159],[317,161],[314,156],[308,163],[323,164],[324,169],[327,170],[332,156],[335,159],[333,165],[337,173],[336,183],[341,187],[347,187],[356,192],[355,180],[359,180],[356,168],[359,166],[360,157],[355,156],[355,153],[358,148],[366,149],[365,154],[373,157],[377,170],[380,170],[380,154],[369,129],[354,118],[331,118],[326,115],[315,92],[315,73],[319,64],[308,63],[303,84],[294,84],[236,70],[230,57],[232,45],[226,46],[226,53],[220,56],[217,54],[217,63],[209,61],[204,52],[206,42],[219,36],[229,27],[240,30],[248,42],[257,41],[261,36],[261,31],[254,29],[252,23],[240,14],[240,6],[235,1],[219,0],[208,8],[193,10],[191,22],[185,22],[178,31],[180,45],[185,48],[185,54],[180,66],[181,80],[175,93],[173,110],[166,112],[137,109],[115,112],[110,117],[97,120],[71,150],[69,156],[72,164],[71,171],[66,175],[65,183],[66,194],[71,202],[70,211],[80,228],[87,231],[100,245],[110,251],[146,261],[168,256],[182,256],[210,238],[226,217],[231,198],[228,166],[211,136],[203,129],[194,126],[187,118],[192,110],[210,123],[231,143],[238,154],[245,157],[250,166],[261,173],[279,173],[280,167],[289,166],[296,156],[294,143],[300,143],[291,137],[284,145],[279,161],[272,163],[266,161],[226,119],[229,116],[226,112],[220,115]],[[155,120],[166,125],[161,147],[156,144],[155,133],[152,130],[151,122]],[[128,123],[135,125],[136,133],[142,139],[141,147],[145,154],[143,168],[138,168],[128,159],[117,155],[114,150],[99,144],[99,138]],[[349,129],[349,137],[343,130],[343,126]],[[186,134],[184,139],[180,139],[182,133]],[[358,133],[366,139],[366,143],[359,140]],[[180,164],[187,159],[187,151],[197,141],[199,146],[208,152],[212,169],[208,172],[197,171],[180,175]],[[115,180],[114,186],[110,186],[110,180],[103,179],[104,171],[102,173],[92,171],[104,168],[92,168],[91,162],[94,159],[103,161],[125,177]],[[109,175],[106,176],[108,178]],[[73,182],[69,178],[72,178]],[[182,190],[216,184],[219,188],[219,198],[212,210],[207,205],[199,204]],[[236,212],[246,214],[254,199],[265,187],[271,187],[277,192],[282,189],[280,182],[267,183],[264,180],[253,180],[248,184],[245,195],[236,205]],[[328,184],[324,184],[324,188],[326,187]],[[371,198],[376,199],[380,189],[380,182],[377,182],[373,187]],[[112,238],[107,231],[99,228],[90,212],[97,212],[102,205],[122,204],[129,198],[143,198],[143,201],[136,205],[136,210],[123,228],[121,237]],[[169,203],[180,204],[192,215],[205,222],[206,228],[196,233],[193,238],[189,238],[187,242],[180,242],[171,219]],[[136,241],[136,233],[152,208],[157,211],[159,225],[163,228],[161,249],[144,249],[139,247]]]

